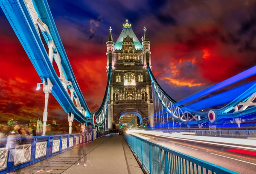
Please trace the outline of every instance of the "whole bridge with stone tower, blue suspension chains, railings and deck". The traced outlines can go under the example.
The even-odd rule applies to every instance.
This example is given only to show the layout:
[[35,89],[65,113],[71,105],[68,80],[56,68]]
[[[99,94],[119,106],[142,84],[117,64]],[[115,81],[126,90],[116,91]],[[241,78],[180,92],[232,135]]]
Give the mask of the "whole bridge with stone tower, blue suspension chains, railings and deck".
[[[106,42],[108,80],[102,104],[94,113],[91,112],[87,106],[78,82],[76,81],[76,76],[69,63],[47,0],[0,0],[0,6],[26,51],[28,58],[41,78],[41,83],[38,83],[38,90],[42,84],[45,93],[43,136],[31,137],[29,138],[31,140],[29,143],[17,146],[13,149],[15,153],[20,150],[26,151],[26,156],[21,159],[21,157],[17,155],[13,163],[7,161],[10,152],[8,149],[4,148],[6,139],[3,140],[0,147],[2,153],[0,173],[6,173],[10,171],[10,168],[18,170],[29,165],[33,166],[38,162],[43,162],[44,165],[44,161],[51,158],[53,159],[52,164],[57,165],[58,162],[65,162],[67,158],[68,160],[77,162],[77,160],[81,158],[75,158],[74,155],[81,154],[81,152],[77,151],[78,148],[76,147],[84,147],[84,145],[88,143],[89,147],[91,147],[89,149],[90,152],[93,151],[93,149],[97,149],[97,151],[94,151],[92,156],[88,155],[87,152],[82,152],[83,156],[88,155],[88,157],[94,159],[94,157],[100,156],[99,151],[105,153],[105,156],[96,158],[93,164],[97,165],[97,167],[103,166],[104,163],[102,163],[102,161],[104,161],[108,163],[105,168],[109,171],[114,167],[118,168],[122,166],[127,169],[126,173],[129,173],[131,166],[126,165],[128,158],[126,158],[125,155],[129,145],[132,150],[132,153],[131,151],[129,151],[129,153],[134,155],[136,161],[138,160],[142,164],[142,166],[139,166],[136,163],[137,168],[143,168],[151,174],[177,173],[179,170],[180,173],[181,171],[183,171],[183,173],[187,171],[189,171],[188,173],[192,173],[191,171],[195,173],[195,168],[197,173],[199,173],[199,168],[201,169],[201,173],[209,171],[220,174],[236,174],[236,172],[230,171],[230,168],[226,169],[218,166],[221,165],[218,162],[218,165],[212,164],[215,163],[214,161],[210,161],[212,163],[207,162],[208,160],[215,159],[216,156],[224,158],[223,152],[214,154],[217,152],[209,149],[207,151],[214,152],[211,153],[209,159],[198,159],[197,157],[187,155],[190,154],[190,152],[185,152],[182,148],[172,149],[173,147],[170,147],[170,145],[161,144],[161,142],[163,142],[163,140],[171,141],[171,144],[177,144],[183,146],[183,148],[190,148],[190,151],[191,149],[198,151],[200,147],[187,145],[179,141],[185,139],[185,142],[196,141],[201,144],[212,143],[211,145],[213,146],[221,142],[222,144],[218,145],[225,147],[233,147],[236,145],[236,147],[242,148],[243,150],[256,150],[255,143],[253,145],[253,140],[250,139],[255,138],[256,133],[253,131],[239,131],[239,133],[219,132],[218,135],[220,135],[219,138],[221,139],[212,137],[212,131],[201,131],[201,134],[199,132],[186,133],[190,135],[189,138],[188,135],[184,136],[182,134],[184,132],[180,132],[181,135],[177,135],[175,132],[169,131],[174,134],[166,135],[161,132],[145,133],[143,131],[135,131],[125,134],[124,137],[128,145],[124,144],[124,139],[121,136],[115,135],[114,138],[111,139],[112,134],[108,134],[109,130],[119,129],[119,125],[121,124],[127,127],[130,126],[130,128],[137,128],[138,125],[146,124],[148,129],[164,127],[169,130],[172,129],[169,128],[169,122],[174,122],[174,120],[187,125],[188,128],[190,125],[197,125],[198,128],[201,128],[202,123],[205,122],[209,123],[211,126],[221,123],[225,119],[234,119],[237,125],[240,126],[241,118],[247,118],[256,113],[255,81],[226,90],[209,98],[206,97],[202,99],[201,97],[205,97],[209,93],[213,93],[235,82],[255,75],[256,67],[245,70],[225,81],[177,102],[170,96],[172,93],[169,94],[163,90],[151,71],[154,65],[151,65],[150,41],[146,28],[144,27],[142,41],[139,41],[132,30],[131,24],[126,20],[116,41],[113,40],[111,27],[109,29],[109,35],[106,37],[108,38]],[[47,43],[48,48],[45,48],[44,42]],[[57,64],[57,70],[53,68],[53,61]],[[48,99],[50,94],[55,97],[67,113],[69,134],[45,136],[48,118]],[[196,102],[196,99],[199,102]],[[212,107],[220,105],[223,105],[223,107],[212,109]],[[82,126],[84,126],[85,123],[89,123],[93,126],[94,130],[88,133],[73,134],[72,122],[74,119],[81,122]],[[96,130],[96,128],[98,130]],[[106,134],[108,134],[108,136],[104,136]],[[193,138],[191,138],[191,135],[199,134],[203,136],[206,135],[204,139],[207,139],[210,134],[211,139],[204,142],[204,139],[200,139],[199,136],[193,136]],[[234,134],[241,135],[239,138],[243,138],[244,142],[247,142],[247,144],[239,142],[236,137],[234,137]],[[214,135],[217,135],[217,133],[214,132]],[[227,141],[227,139],[223,138],[231,138],[231,135],[232,140],[229,139]],[[152,136],[154,138],[152,138]],[[102,139],[97,139],[99,137],[102,137]],[[151,139],[151,141],[147,139]],[[153,139],[154,141],[157,140],[157,142],[154,142]],[[179,139],[179,141],[173,139]],[[113,146],[115,143],[116,146]],[[205,148],[202,147],[201,149]],[[179,151],[182,151],[182,153]],[[114,152],[119,153],[118,155],[120,155],[120,157],[118,155],[117,157],[114,156]],[[62,153],[64,153],[65,157],[61,156]],[[201,153],[204,154],[205,152]],[[109,162],[108,158],[110,157],[112,160],[118,159],[116,166],[111,165],[113,162]],[[242,161],[241,158],[243,157],[240,158],[239,156],[239,159],[235,157],[237,156],[233,155],[228,158],[240,162]],[[105,159],[102,160],[103,158]],[[249,166],[247,169],[256,165],[254,159],[246,158],[246,160],[245,162],[247,162]],[[76,165],[75,163],[71,163],[72,162],[65,163],[65,166],[69,166],[68,168],[70,169],[61,165],[63,168],[61,172],[72,173],[73,170],[76,169]],[[233,162],[227,162],[225,166],[229,166],[230,164],[233,164]],[[243,166],[236,163],[236,166],[239,165]],[[52,168],[52,166],[50,167]],[[94,168],[94,170],[98,170],[97,172],[99,172],[100,168],[97,167]],[[59,168],[59,165],[56,168],[56,170],[62,170]],[[184,168],[186,168],[186,172],[184,172]],[[120,173],[121,169],[122,168],[119,168],[116,173]],[[85,170],[90,171],[88,168]],[[108,170],[102,170],[100,172]],[[35,173],[35,171],[32,173]]]

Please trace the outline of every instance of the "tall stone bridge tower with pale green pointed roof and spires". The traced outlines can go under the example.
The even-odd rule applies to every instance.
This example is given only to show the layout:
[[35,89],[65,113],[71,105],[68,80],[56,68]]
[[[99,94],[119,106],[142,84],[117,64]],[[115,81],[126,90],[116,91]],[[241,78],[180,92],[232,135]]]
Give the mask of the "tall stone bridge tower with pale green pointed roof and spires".
[[152,85],[147,70],[151,67],[150,42],[144,28],[143,42],[134,34],[131,24],[123,24],[116,43],[111,27],[107,41],[107,73],[111,64],[111,88],[108,128],[119,129],[120,118],[138,116],[140,123],[154,127]]

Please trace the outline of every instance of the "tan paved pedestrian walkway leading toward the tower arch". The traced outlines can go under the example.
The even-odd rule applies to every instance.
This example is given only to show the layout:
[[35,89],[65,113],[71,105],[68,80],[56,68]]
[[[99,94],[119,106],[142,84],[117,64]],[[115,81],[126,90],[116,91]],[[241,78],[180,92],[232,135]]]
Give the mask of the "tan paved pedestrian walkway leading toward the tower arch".
[[[79,166],[76,166],[79,161],[79,147],[76,147],[18,172],[26,174],[143,174],[123,136],[108,134],[86,145],[83,147],[84,153],[82,151],[80,153],[82,161]],[[86,167],[83,166],[84,155],[87,157]],[[44,171],[37,172],[40,169]],[[47,172],[48,169],[53,171]]]

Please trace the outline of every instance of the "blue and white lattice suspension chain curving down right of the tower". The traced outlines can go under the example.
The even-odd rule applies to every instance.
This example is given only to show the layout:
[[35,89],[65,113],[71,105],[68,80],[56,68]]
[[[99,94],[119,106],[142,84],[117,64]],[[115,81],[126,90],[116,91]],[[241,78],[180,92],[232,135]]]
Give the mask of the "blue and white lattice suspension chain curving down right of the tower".
[[[148,73],[151,78],[151,83],[158,98],[158,101],[162,104],[164,110],[162,112],[168,112],[170,116],[178,122],[186,125],[201,124],[203,122],[216,123],[221,122],[223,119],[238,118],[241,116],[248,116],[256,113],[256,84],[255,82],[247,85],[249,87],[239,96],[237,96],[232,102],[226,104],[221,109],[198,111],[189,107],[181,105],[172,99],[158,84],[157,80],[148,66]],[[159,114],[160,115],[160,114]]]

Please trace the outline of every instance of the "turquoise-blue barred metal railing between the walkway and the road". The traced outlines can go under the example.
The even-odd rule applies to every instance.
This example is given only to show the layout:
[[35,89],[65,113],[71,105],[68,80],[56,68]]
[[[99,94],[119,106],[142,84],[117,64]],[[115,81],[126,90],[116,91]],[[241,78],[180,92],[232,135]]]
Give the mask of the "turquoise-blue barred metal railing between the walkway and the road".
[[131,134],[124,138],[149,174],[238,174]]

